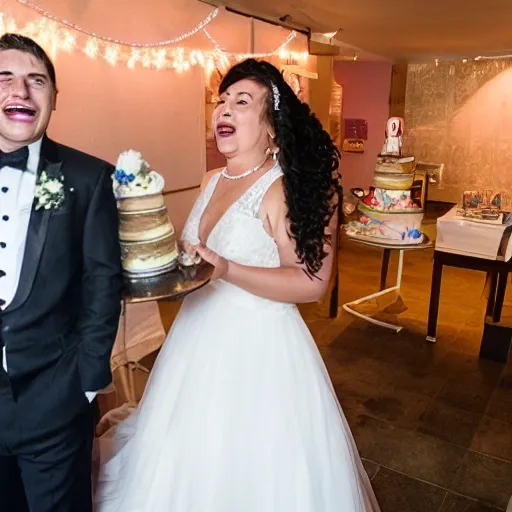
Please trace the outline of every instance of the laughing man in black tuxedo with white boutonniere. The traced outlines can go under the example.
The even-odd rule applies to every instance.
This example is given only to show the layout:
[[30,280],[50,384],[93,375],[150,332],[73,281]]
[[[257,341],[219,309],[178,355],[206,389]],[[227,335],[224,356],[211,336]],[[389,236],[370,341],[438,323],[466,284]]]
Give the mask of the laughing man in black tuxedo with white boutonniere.
[[1,512],[92,510],[95,395],[120,314],[113,168],[46,137],[56,95],[43,49],[1,37]]

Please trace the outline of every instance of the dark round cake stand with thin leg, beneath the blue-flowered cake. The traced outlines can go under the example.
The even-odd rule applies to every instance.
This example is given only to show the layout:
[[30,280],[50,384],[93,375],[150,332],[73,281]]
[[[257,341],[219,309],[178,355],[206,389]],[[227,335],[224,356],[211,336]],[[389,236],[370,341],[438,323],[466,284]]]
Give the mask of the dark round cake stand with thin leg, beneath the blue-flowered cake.
[[135,382],[133,372],[141,369],[149,371],[138,361],[130,361],[126,350],[126,304],[150,302],[150,301],[178,301],[189,293],[199,290],[211,280],[214,267],[202,261],[198,265],[190,267],[178,266],[168,272],[153,276],[123,276],[121,321],[123,322],[123,334],[121,343],[125,355],[119,365],[119,376],[123,393],[128,400],[128,406],[136,406]]

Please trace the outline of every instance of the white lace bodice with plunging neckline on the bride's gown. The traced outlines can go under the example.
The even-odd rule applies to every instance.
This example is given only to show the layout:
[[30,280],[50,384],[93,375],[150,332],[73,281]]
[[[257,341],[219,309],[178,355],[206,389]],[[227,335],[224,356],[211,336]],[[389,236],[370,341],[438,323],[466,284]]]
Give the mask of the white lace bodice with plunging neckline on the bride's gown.
[[[280,264],[276,243],[265,231],[258,212],[265,193],[283,172],[278,164],[261,176],[224,213],[208,236],[206,245],[222,257],[255,267],[278,267]],[[199,224],[219,182],[220,172],[209,181],[197,198],[183,229],[182,239],[199,243]]]

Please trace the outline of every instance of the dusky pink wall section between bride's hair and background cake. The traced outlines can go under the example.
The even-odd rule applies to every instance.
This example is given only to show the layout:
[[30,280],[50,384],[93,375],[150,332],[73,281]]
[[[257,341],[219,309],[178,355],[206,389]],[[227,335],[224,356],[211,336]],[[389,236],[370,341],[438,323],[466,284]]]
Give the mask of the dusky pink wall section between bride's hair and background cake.
[[391,64],[387,62],[335,62],[334,79],[343,87],[344,118],[366,119],[368,140],[364,153],[343,153],[341,173],[345,193],[370,186],[375,160],[382,149],[389,117]]

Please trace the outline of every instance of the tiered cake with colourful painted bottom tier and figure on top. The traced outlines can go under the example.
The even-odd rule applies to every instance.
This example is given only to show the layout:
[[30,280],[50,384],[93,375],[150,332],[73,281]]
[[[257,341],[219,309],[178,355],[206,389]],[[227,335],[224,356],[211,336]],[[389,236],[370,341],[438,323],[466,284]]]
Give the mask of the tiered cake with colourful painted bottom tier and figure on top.
[[353,189],[360,199],[357,209],[359,221],[347,226],[347,234],[390,244],[418,244],[423,241],[421,223],[422,205],[411,198],[411,186],[416,167],[414,157],[402,157],[401,118],[392,117],[387,124],[386,141],[370,191]]

